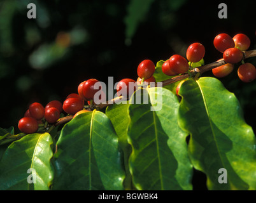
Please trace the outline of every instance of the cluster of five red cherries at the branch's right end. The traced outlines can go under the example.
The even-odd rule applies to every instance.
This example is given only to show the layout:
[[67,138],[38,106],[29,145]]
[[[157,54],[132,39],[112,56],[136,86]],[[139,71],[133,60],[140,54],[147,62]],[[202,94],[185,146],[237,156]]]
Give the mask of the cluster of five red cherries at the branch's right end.
[[[231,74],[234,64],[242,62],[238,68],[238,77],[243,82],[252,82],[256,78],[256,69],[252,63],[243,61],[243,51],[250,47],[250,39],[245,34],[236,34],[233,38],[228,34],[218,34],[213,44],[215,48],[223,53],[224,65],[212,70],[216,77],[225,77]],[[222,60],[222,59],[220,59]]]

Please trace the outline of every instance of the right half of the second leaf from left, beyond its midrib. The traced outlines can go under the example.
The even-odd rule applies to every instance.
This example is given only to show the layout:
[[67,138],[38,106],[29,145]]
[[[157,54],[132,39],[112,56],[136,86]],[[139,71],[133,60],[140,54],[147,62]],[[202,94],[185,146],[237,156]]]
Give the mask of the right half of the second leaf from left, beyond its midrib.
[[91,126],[92,147],[106,190],[122,190],[125,178],[118,137],[110,119],[95,111]]

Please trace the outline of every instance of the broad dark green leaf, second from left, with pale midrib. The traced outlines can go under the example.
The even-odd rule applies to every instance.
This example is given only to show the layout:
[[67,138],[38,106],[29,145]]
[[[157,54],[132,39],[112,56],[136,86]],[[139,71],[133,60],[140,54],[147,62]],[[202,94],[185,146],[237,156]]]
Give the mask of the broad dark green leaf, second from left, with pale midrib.
[[117,134],[99,111],[80,114],[60,133],[55,190],[122,190],[124,171]]

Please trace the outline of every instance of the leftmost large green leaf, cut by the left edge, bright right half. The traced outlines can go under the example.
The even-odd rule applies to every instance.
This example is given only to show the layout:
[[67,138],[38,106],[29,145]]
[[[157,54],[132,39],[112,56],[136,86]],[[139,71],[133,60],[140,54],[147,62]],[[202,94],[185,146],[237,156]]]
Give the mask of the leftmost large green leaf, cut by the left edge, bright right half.
[[48,133],[27,134],[11,143],[0,162],[0,190],[49,190],[53,180],[51,145]]

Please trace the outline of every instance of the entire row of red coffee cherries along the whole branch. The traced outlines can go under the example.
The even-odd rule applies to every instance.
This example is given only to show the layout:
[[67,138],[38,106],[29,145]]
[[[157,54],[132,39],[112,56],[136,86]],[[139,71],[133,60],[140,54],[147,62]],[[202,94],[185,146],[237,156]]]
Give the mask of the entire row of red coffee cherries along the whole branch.
[[[213,74],[217,77],[224,77],[231,73],[234,68],[234,63],[243,63],[243,51],[246,51],[250,46],[250,39],[245,34],[237,34],[231,38],[228,34],[219,34],[215,37],[213,44],[215,48],[223,53],[223,58],[226,62],[225,65],[213,69]],[[184,74],[192,69],[192,63],[201,61],[205,54],[205,48],[201,43],[190,44],[187,48],[187,59],[181,55],[173,55],[166,62],[162,64],[162,72],[169,76]],[[136,91],[138,86],[147,86],[149,82],[155,82],[153,74],[155,72],[155,64],[152,60],[143,60],[139,63],[137,68],[138,79],[125,78],[117,84],[117,95],[129,97],[130,93]],[[256,77],[256,69],[252,63],[243,63],[238,68],[238,76],[244,82],[253,81]],[[183,81],[178,84],[176,94],[180,89]],[[96,86],[97,84],[97,86]],[[129,91],[129,88],[131,91]],[[71,93],[66,97],[62,103],[54,100],[50,101],[45,107],[41,103],[32,103],[29,106],[24,117],[18,122],[18,128],[24,133],[35,133],[38,131],[38,124],[46,126],[47,124],[54,124],[60,118],[62,110],[67,114],[74,115],[74,117],[88,110],[83,109],[85,102],[88,105],[96,103],[95,95],[100,92],[99,100],[106,100],[106,94],[102,89],[101,82],[97,79],[88,79],[83,81],[78,86],[78,94]],[[122,91],[121,91],[122,89]],[[104,98],[103,98],[104,97]]]

